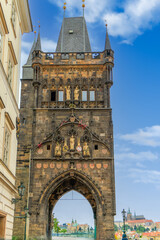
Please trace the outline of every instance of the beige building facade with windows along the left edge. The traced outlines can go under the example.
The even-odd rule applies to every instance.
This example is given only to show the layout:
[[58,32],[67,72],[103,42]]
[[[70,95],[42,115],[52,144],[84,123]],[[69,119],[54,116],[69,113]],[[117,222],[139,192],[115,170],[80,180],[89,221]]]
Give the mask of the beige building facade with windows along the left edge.
[[0,239],[12,238],[21,36],[30,31],[28,0],[0,0]]

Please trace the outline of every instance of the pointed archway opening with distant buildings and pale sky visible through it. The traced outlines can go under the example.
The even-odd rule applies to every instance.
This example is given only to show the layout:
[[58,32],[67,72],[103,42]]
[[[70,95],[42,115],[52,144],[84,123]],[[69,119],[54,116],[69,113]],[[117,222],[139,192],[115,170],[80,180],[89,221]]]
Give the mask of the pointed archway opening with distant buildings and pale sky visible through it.
[[95,237],[92,207],[82,194],[74,190],[64,194],[56,203],[52,222],[53,240],[66,237],[69,239],[85,237],[93,240]]

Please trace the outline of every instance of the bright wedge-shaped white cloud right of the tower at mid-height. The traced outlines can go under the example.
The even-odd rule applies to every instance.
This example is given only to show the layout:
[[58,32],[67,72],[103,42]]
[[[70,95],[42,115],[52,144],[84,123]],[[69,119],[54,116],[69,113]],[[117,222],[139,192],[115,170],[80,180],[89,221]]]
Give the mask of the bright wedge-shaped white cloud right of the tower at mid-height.
[[133,144],[159,147],[160,146],[160,125],[139,129],[135,133],[121,135],[120,139],[130,141]]

